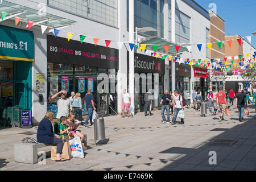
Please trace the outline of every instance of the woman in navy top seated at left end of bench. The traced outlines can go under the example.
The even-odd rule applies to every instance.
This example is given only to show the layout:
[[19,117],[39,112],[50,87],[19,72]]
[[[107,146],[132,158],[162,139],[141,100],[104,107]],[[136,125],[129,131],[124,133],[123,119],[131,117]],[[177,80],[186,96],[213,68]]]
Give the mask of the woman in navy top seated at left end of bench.
[[57,146],[57,155],[56,162],[65,161],[65,159],[60,158],[60,154],[62,154],[63,148],[63,140],[59,135],[54,134],[52,130],[52,119],[54,117],[53,111],[47,111],[46,115],[44,115],[44,119],[40,121],[38,125],[38,132],[36,133],[36,138],[39,143],[49,143]]

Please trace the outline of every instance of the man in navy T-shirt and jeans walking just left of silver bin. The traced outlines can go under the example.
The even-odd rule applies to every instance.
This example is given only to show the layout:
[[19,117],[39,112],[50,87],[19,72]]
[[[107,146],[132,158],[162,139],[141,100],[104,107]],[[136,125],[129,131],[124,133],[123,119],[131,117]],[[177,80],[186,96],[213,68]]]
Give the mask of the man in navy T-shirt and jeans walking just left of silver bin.
[[84,106],[85,106],[85,110],[88,111],[87,118],[85,119],[85,122],[84,122],[84,125],[86,127],[86,125],[88,125],[89,119],[90,119],[90,125],[93,125],[92,114],[93,114],[93,110],[96,110],[96,107],[94,107],[94,98],[93,98],[91,89],[88,89],[87,93],[85,94]]

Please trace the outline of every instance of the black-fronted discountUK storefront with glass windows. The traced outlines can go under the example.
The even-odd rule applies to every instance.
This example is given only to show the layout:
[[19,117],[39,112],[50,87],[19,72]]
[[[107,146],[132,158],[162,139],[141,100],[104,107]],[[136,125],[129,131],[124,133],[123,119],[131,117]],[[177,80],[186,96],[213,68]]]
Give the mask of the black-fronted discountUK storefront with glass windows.
[[[127,52],[129,60],[129,52]],[[127,61],[127,72],[129,72],[129,61]],[[135,110],[144,111],[144,94],[149,89],[154,89],[154,107],[160,106],[164,88],[164,60],[160,58],[134,53],[134,105]],[[129,78],[127,79],[129,82]]]

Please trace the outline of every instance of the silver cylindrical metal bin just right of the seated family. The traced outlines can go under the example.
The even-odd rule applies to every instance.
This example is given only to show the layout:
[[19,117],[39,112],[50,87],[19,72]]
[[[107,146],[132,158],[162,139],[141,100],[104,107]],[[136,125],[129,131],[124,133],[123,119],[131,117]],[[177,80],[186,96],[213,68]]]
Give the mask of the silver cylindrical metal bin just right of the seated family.
[[103,114],[100,113],[102,115],[102,118],[98,118],[98,119],[94,119],[94,144],[97,145],[97,140],[103,140],[106,139],[105,136],[105,123],[104,123],[104,118],[103,118]]

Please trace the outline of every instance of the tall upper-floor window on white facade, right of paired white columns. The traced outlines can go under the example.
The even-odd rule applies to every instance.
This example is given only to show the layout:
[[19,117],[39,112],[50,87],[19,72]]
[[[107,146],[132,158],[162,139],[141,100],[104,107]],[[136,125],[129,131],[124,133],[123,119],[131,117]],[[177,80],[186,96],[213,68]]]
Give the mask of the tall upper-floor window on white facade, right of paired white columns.
[[[169,23],[169,40],[171,41],[171,6],[169,5],[168,12]],[[179,10],[175,10],[175,42],[190,43],[191,42],[191,18]]]

